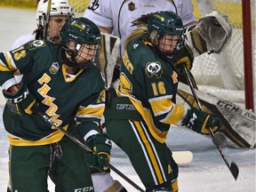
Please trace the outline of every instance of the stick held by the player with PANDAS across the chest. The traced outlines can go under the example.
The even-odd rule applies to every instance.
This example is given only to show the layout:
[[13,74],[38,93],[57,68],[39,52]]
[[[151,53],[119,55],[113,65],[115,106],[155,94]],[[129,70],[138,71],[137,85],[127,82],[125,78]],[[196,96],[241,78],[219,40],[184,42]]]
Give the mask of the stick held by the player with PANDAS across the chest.
[[[83,142],[81,142],[80,140],[78,140],[74,135],[72,135],[70,132],[67,132],[65,129],[63,129],[63,127],[61,127],[59,124],[56,124],[54,121],[52,121],[51,118],[49,118],[48,116],[44,115],[43,113],[41,113],[37,108],[33,107],[32,111],[34,113],[36,113],[36,115],[41,116],[44,121],[46,121],[47,123],[51,124],[52,126],[56,127],[56,129],[58,129],[60,132],[63,132],[70,140],[72,140],[73,142],[75,142],[80,148],[83,148],[87,153],[93,153],[92,149],[89,148],[88,146],[86,146]],[[112,164],[108,164],[108,167],[113,170],[114,172],[116,172],[116,174],[118,174],[120,177],[122,177],[124,180],[126,180],[128,183],[130,183],[132,185],[133,188],[138,189],[139,191],[144,191],[142,188],[140,188],[136,183],[134,183],[132,180],[130,180],[128,177],[126,177],[124,175],[123,172],[120,172],[119,170],[116,169],[116,167],[114,167]]]

